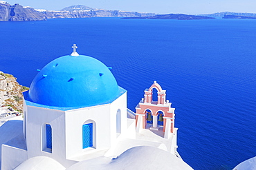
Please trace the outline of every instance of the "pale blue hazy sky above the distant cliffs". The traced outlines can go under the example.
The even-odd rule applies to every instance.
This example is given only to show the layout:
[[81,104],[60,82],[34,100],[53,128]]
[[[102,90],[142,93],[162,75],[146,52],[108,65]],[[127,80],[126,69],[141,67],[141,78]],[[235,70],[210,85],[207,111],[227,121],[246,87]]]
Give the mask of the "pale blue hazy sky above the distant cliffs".
[[36,9],[61,10],[67,6],[84,5],[106,10],[154,13],[207,14],[214,12],[256,13],[256,0],[6,0],[13,5]]

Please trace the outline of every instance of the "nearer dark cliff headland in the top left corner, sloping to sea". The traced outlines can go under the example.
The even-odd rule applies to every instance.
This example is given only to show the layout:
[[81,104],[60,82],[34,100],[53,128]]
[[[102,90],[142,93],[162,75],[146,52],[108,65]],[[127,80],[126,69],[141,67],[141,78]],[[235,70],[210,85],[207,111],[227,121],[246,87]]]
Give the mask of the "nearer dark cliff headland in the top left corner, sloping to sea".
[[6,1],[0,1],[0,21],[40,21],[46,16],[33,8],[19,6],[16,3],[11,6]]

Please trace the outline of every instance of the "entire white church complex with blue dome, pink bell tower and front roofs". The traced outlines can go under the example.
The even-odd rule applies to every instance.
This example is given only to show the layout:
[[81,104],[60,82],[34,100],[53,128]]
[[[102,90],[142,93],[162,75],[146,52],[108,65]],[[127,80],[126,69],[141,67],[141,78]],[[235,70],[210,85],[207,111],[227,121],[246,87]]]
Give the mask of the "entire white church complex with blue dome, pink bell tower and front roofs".
[[111,69],[74,44],[72,54],[37,70],[24,92],[23,131],[0,143],[1,170],[192,169],[177,152],[166,91],[152,81],[134,113]]

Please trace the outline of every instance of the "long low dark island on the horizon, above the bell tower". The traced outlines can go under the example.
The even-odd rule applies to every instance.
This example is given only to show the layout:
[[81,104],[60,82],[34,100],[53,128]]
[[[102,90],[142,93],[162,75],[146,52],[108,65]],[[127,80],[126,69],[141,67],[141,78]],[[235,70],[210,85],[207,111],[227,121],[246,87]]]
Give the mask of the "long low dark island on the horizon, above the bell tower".
[[215,19],[213,17],[196,16],[190,14],[161,14],[152,17],[125,17],[122,19],[178,19],[178,20],[192,20],[192,19]]

